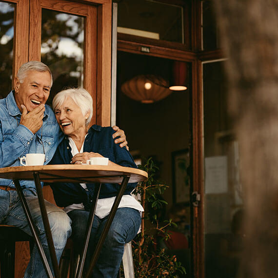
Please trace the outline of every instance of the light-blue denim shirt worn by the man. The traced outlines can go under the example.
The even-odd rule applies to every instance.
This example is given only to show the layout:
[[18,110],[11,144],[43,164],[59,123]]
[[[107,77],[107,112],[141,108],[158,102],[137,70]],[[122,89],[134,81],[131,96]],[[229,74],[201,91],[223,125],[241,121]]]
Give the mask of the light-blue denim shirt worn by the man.
[[[20,157],[28,153],[43,153],[47,164],[53,157],[63,134],[48,105],[45,105],[43,124],[36,134],[20,124],[21,113],[11,91],[5,99],[0,99],[0,167],[20,166]],[[13,180],[0,179],[0,185],[14,187]],[[35,188],[33,181],[20,180],[22,188]]]

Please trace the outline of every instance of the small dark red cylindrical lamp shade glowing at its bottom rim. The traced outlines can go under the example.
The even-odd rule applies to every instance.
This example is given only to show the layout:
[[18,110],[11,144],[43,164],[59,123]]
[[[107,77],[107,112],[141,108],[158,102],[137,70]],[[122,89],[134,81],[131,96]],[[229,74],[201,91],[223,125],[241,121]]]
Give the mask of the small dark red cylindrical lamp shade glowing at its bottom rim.
[[182,61],[174,61],[173,73],[169,81],[169,89],[173,91],[184,91],[187,89],[187,64]]

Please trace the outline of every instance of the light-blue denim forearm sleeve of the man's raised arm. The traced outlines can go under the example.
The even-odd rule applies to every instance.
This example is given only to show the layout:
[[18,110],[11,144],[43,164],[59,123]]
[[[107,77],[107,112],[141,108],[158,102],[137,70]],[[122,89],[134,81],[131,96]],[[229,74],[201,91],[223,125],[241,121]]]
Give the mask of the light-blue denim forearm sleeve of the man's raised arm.
[[9,167],[26,153],[34,134],[24,125],[19,125],[11,133],[3,134],[0,123],[0,167]]

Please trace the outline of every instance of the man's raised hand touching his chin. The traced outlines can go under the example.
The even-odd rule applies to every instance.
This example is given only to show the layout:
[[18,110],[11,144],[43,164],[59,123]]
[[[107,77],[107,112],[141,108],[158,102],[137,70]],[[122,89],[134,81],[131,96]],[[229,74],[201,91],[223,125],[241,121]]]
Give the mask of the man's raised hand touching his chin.
[[36,133],[42,126],[43,112],[45,110],[44,104],[40,104],[34,110],[28,113],[26,107],[22,104],[22,114],[20,124],[26,126],[32,133]]

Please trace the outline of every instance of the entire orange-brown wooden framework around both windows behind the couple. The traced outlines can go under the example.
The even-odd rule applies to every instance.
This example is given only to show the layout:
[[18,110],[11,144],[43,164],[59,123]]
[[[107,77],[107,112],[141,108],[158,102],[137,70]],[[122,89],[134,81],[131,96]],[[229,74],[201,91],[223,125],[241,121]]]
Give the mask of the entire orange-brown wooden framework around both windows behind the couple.
[[[22,63],[40,60],[42,8],[80,15],[90,20],[84,30],[84,87],[94,99],[91,123],[110,125],[112,0],[2,1],[16,4],[13,77]],[[96,23],[92,22],[93,18],[97,19]],[[96,39],[92,37],[94,28],[97,30]]]

